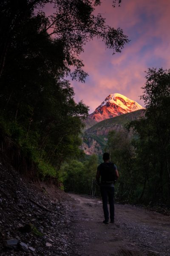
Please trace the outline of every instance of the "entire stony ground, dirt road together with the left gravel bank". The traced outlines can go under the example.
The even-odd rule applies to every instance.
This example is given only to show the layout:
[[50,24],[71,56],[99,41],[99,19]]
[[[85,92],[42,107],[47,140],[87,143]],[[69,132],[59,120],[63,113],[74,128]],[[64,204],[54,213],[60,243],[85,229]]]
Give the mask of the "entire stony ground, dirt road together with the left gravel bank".
[[170,256],[170,216],[120,204],[115,215],[103,224],[99,199],[0,163],[0,256]]

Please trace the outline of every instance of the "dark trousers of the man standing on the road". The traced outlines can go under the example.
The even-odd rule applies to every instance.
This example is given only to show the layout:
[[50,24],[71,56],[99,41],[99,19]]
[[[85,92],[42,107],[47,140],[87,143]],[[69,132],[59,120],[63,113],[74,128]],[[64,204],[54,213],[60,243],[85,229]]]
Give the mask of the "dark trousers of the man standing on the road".
[[102,195],[105,221],[109,220],[108,201],[110,205],[110,218],[111,221],[114,221],[114,187],[101,186],[100,191]]

